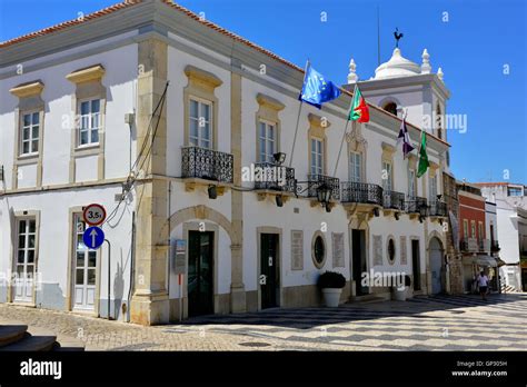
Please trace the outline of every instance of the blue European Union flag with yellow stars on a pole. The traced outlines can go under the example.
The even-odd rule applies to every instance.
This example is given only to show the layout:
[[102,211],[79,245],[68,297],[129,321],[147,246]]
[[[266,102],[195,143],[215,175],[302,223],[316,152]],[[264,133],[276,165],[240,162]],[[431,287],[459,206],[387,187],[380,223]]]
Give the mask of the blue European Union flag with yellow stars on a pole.
[[326,80],[320,72],[308,63],[302,91],[298,99],[320,109],[322,102],[328,102],[338,98],[338,96],[340,96],[339,88],[334,82]]

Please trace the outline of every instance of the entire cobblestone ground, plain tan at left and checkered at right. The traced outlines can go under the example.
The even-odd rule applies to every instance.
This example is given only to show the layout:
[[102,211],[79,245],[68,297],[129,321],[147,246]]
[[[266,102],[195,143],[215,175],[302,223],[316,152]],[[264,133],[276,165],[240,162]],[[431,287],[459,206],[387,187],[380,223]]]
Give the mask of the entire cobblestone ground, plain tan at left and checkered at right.
[[88,350],[527,350],[526,294],[271,309],[156,327],[2,304],[2,319],[77,337]]

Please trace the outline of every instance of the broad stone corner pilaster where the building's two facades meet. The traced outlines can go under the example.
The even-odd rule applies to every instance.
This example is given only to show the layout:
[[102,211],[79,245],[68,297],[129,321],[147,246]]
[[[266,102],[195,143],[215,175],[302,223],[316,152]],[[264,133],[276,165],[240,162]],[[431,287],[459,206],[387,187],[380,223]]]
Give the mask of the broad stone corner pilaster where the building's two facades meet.
[[[148,141],[139,160],[139,178],[136,183],[136,277],[130,305],[131,321],[155,325],[169,321],[167,290],[167,254],[169,230],[163,227],[167,218],[167,181],[152,178],[166,173],[167,101],[158,109],[147,137],[151,115],[158,105],[167,82],[167,44],[155,38],[139,42],[137,149]],[[159,126],[151,152],[146,155],[159,117]]]

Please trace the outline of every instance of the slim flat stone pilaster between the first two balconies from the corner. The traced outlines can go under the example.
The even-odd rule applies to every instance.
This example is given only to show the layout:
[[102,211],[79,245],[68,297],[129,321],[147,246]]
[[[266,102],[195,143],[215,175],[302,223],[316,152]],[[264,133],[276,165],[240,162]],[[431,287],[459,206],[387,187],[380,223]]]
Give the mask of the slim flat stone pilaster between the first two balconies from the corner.
[[[240,68],[240,63],[232,63]],[[233,156],[233,182],[241,186],[241,76],[231,72],[230,78],[230,149]],[[247,310],[246,289],[243,285],[243,196],[242,192],[231,190],[231,224],[235,240],[231,240],[231,284],[230,311],[243,312]]]

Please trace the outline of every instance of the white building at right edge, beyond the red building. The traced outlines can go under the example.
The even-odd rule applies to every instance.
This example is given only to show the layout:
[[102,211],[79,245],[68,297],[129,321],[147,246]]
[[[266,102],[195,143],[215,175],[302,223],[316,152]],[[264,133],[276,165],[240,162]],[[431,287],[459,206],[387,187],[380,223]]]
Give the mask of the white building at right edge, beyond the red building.
[[496,204],[499,256],[505,284],[527,291],[527,186],[479,182],[481,195]]

